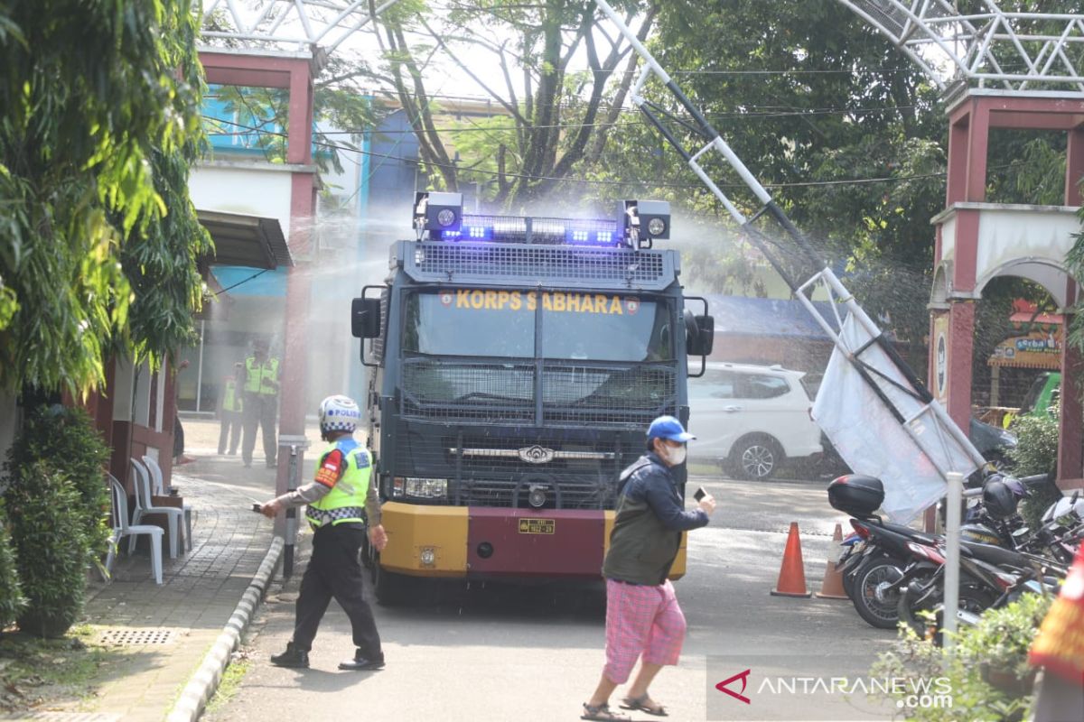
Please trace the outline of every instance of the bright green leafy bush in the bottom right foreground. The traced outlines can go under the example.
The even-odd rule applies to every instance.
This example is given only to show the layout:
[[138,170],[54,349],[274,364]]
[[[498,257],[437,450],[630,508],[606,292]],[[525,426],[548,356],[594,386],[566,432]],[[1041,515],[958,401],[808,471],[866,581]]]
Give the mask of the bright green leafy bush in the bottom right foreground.
[[880,655],[873,673],[887,678],[943,678],[952,690],[952,705],[906,707],[909,690],[892,695],[904,718],[920,722],[959,720],[1005,721],[1023,718],[1032,700],[1032,670],[1028,651],[1050,608],[1050,595],[1025,594],[1001,609],[985,612],[975,627],[956,635],[955,654],[901,628],[893,652]]

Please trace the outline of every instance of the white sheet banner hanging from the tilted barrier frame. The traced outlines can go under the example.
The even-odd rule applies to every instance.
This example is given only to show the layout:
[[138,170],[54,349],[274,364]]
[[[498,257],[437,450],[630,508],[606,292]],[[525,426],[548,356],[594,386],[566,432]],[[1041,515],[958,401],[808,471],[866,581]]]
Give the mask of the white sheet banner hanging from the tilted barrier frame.
[[933,409],[904,391],[912,389],[911,384],[880,346],[869,344],[870,340],[869,332],[849,314],[839,341],[851,353],[868,344],[859,358],[869,369],[874,384],[904,417],[904,423],[878,398],[875,388],[838,344],[817,391],[813,418],[854,473],[881,480],[881,508],[892,521],[906,524],[944,496],[947,472],[967,476],[978,465]]

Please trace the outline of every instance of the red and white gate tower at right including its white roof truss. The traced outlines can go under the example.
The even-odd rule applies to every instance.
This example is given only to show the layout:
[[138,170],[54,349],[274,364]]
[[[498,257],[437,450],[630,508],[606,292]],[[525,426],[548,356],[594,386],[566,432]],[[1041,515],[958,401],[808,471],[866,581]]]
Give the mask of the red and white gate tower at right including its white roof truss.
[[[965,9],[953,0],[837,1],[877,28],[949,99],[946,210],[933,220],[929,378],[956,423],[967,424],[975,302],[986,284],[998,275],[1032,279],[1050,291],[1063,314],[1077,298],[1080,287],[1064,273],[1063,260],[1080,227],[1084,76],[1075,58],[1084,45],[1084,15],[1019,10],[999,0]],[[1068,133],[1063,207],[984,202],[991,128]],[[1081,359],[1063,345],[1058,480],[1084,486],[1080,389],[1069,372]]]

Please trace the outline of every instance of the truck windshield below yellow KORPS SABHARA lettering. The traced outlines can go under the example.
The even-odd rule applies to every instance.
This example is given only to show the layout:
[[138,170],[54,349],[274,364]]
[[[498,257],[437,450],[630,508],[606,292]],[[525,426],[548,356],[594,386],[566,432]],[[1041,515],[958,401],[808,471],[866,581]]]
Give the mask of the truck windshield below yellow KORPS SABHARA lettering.
[[[542,344],[535,349],[535,315]],[[664,302],[612,293],[450,289],[406,298],[403,351],[593,362],[659,362],[673,355]]]

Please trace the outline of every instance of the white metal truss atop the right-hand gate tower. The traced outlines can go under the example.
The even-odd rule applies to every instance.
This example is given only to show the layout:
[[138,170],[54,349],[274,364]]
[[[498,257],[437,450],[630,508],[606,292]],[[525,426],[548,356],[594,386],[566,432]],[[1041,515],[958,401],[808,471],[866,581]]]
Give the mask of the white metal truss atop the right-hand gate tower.
[[1084,94],[1084,15],[1002,10],[976,0],[837,0],[944,90],[954,84]]

